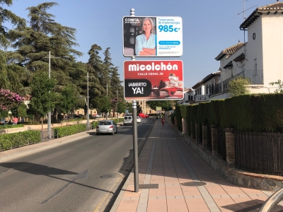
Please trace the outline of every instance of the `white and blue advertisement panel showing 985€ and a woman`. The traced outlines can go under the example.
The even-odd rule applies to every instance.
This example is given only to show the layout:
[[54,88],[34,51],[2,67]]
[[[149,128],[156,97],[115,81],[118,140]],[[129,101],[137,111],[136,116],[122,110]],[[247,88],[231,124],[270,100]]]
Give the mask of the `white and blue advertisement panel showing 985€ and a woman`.
[[125,57],[180,57],[183,54],[183,23],[176,16],[125,16]]

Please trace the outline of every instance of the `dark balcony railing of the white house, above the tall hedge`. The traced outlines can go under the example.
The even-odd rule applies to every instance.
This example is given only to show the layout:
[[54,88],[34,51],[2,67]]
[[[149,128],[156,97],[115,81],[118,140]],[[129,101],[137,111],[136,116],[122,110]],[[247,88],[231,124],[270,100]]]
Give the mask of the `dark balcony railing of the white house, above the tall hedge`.
[[226,92],[228,90],[229,82],[232,81],[236,77],[248,78],[250,80],[251,85],[262,85],[263,84],[263,70],[250,70],[250,71],[242,71],[241,73],[232,76],[231,78],[223,81],[223,89],[222,92]]

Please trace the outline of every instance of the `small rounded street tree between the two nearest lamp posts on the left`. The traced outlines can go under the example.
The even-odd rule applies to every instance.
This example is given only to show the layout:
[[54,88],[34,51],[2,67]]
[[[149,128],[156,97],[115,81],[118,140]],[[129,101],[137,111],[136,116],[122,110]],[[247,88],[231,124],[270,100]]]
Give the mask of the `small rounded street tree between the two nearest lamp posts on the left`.
[[76,106],[77,103],[77,93],[74,85],[69,84],[68,86],[62,89],[62,93],[59,101],[59,110],[64,114],[67,114],[66,122],[68,125],[68,114],[71,112],[71,109]]

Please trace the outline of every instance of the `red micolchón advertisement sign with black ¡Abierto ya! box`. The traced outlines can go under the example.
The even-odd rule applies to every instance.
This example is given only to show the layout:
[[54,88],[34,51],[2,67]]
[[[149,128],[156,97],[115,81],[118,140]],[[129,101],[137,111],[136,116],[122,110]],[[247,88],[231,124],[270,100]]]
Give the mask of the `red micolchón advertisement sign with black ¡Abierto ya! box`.
[[125,61],[125,100],[182,100],[183,61]]

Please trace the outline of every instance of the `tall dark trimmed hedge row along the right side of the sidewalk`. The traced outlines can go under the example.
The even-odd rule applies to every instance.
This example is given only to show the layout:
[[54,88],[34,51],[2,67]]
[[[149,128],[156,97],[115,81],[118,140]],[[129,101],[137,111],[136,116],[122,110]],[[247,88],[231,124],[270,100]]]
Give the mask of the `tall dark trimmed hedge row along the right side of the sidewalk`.
[[283,133],[283,93],[239,95],[198,105],[182,105],[176,107],[176,112],[180,119],[186,117],[187,129],[190,134],[192,127],[192,135],[196,123],[200,127],[208,124],[238,131]]

